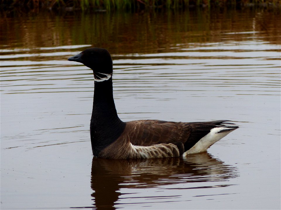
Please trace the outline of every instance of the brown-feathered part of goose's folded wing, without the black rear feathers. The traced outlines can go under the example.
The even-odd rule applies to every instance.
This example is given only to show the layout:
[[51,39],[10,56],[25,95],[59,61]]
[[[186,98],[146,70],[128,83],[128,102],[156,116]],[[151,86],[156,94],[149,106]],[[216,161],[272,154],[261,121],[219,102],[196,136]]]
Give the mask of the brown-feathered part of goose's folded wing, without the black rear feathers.
[[127,122],[126,132],[130,142],[138,146],[153,144],[176,144],[186,142],[190,134],[190,126],[185,123],[160,120],[139,120]]

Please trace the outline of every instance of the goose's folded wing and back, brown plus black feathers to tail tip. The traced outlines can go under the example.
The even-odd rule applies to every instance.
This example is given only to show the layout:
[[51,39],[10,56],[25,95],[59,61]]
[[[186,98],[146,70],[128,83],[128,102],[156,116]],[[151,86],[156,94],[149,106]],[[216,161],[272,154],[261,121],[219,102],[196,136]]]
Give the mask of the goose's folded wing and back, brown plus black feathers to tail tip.
[[139,120],[127,122],[126,132],[133,145],[150,146],[172,143],[178,147],[181,154],[193,147],[212,128],[224,127],[231,130],[238,128],[233,123],[225,122],[227,120],[192,123]]

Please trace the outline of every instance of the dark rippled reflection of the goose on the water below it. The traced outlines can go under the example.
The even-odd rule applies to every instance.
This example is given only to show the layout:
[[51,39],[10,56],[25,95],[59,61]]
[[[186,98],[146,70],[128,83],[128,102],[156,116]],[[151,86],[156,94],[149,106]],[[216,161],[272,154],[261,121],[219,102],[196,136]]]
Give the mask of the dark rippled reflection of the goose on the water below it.
[[[187,158],[156,159],[99,159],[93,158],[91,188],[95,192],[96,209],[116,209],[120,203],[123,188],[151,188],[179,183],[199,183],[227,181],[238,176],[236,167],[224,164],[207,152],[189,155]],[[214,183],[215,184],[215,183]],[[210,187],[227,187],[214,185],[173,189],[194,189]],[[178,187],[178,185],[177,185]],[[171,188],[169,188],[171,189]],[[168,190],[169,190],[168,189]],[[118,201],[119,200],[119,201]],[[118,202],[117,202],[118,201]]]

